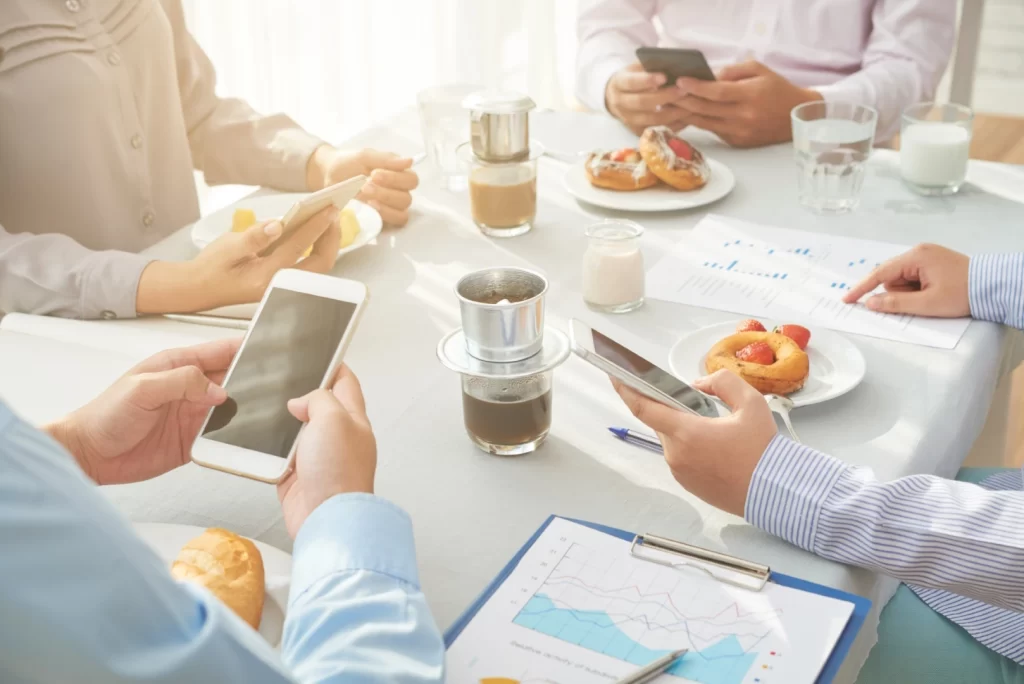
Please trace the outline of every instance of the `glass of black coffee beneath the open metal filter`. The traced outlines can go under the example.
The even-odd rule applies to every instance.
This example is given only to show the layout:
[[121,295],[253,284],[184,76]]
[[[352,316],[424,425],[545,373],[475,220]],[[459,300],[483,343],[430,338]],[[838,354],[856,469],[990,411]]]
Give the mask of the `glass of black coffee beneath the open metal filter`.
[[498,456],[537,451],[551,429],[554,371],[525,378],[462,376],[466,432],[477,446]]

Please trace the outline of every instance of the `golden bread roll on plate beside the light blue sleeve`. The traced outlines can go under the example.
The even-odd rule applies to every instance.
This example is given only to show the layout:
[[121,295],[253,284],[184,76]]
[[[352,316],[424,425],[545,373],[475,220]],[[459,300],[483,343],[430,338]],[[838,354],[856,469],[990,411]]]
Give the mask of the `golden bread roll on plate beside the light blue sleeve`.
[[266,586],[263,557],[250,540],[210,527],[182,547],[171,564],[171,575],[206,587],[254,630],[259,629]]

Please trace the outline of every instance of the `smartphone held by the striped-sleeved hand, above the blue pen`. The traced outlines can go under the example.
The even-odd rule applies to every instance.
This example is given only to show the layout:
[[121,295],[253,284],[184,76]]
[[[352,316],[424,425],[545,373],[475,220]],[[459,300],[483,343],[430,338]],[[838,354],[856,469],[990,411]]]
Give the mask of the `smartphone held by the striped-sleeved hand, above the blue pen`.
[[672,409],[718,418],[707,395],[575,318],[569,322],[569,339],[573,353],[627,387]]

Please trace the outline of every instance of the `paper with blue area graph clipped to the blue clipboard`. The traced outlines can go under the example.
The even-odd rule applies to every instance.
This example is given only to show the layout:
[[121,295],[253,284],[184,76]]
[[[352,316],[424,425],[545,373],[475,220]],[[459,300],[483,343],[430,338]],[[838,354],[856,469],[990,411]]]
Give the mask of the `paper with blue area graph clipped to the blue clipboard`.
[[812,684],[853,607],[634,558],[555,518],[449,648],[447,681],[607,683],[688,648],[658,682]]

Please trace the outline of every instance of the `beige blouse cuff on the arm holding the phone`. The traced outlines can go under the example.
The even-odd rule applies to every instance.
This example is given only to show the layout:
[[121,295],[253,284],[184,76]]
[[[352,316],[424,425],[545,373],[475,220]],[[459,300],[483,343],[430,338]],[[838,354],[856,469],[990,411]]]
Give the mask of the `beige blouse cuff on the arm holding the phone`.
[[134,318],[142,271],[153,259],[130,252],[97,252],[82,282],[83,318]]

